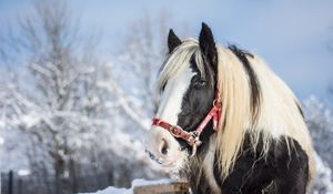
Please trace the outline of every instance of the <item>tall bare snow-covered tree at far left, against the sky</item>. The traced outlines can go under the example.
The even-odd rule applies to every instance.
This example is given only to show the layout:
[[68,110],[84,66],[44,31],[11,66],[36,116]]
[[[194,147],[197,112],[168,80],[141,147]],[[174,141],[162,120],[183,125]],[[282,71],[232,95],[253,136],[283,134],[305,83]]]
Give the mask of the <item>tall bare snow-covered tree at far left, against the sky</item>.
[[27,76],[9,78],[1,102],[7,126],[29,135],[30,169],[52,166],[56,183],[73,172],[75,153],[89,145],[82,142],[95,141],[100,125],[107,124],[99,120],[103,99],[95,85],[92,44],[82,44],[69,18],[64,3],[51,1],[36,4],[34,14],[21,20],[14,47],[24,53],[19,58]]

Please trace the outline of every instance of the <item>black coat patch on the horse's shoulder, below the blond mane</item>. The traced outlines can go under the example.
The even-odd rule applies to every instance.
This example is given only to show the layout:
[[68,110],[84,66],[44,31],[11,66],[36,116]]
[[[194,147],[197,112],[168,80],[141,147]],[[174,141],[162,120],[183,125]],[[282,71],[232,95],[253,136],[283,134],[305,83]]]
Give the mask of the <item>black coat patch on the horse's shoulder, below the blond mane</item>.
[[[309,164],[307,155],[300,144],[291,137],[274,141],[264,159],[261,155],[262,142],[254,152],[249,136],[245,139],[242,155],[225,181],[221,181],[219,169],[215,167],[215,178],[222,185],[222,193],[260,194],[265,191],[268,194],[305,194]],[[291,144],[290,155],[286,141]]]

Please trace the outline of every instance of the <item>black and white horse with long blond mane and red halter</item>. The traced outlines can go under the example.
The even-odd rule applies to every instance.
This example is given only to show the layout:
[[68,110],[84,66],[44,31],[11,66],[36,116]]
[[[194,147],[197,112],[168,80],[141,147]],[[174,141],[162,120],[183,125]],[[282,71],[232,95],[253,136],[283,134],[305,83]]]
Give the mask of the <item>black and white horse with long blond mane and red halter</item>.
[[314,150],[300,103],[259,55],[170,29],[145,152],[192,193],[304,194]]

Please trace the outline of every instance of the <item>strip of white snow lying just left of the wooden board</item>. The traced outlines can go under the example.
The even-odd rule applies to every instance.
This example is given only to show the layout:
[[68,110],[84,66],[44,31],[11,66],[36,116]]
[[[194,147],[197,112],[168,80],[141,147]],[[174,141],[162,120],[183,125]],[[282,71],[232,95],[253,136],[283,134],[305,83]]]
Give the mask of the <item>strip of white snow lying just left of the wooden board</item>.
[[174,181],[170,180],[170,178],[153,180],[153,181],[137,178],[137,180],[133,180],[132,186],[130,188],[117,188],[113,186],[109,186],[102,191],[97,191],[94,193],[85,193],[85,194],[133,194],[133,190],[135,186],[169,184],[172,182],[174,182]]

